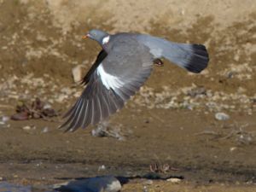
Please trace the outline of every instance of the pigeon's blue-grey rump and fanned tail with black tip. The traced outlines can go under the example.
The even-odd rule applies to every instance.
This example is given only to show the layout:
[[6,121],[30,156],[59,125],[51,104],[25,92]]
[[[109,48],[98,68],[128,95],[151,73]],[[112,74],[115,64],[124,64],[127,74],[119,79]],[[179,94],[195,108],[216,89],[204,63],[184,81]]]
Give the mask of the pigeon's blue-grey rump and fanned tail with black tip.
[[177,44],[148,35],[141,35],[138,39],[148,46],[156,58],[164,57],[189,72],[200,73],[208,65],[209,55],[202,44]]

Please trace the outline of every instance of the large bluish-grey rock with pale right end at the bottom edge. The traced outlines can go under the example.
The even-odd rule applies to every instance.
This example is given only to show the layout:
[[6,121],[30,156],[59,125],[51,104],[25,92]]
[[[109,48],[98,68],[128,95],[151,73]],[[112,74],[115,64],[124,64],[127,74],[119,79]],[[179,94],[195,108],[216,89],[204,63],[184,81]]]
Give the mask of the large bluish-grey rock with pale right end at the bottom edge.
[[77,191],[77,192],[118,192],[121,183],[116,177],[90,177],[86,179],[74,180],[67,183],[55,184],[53,189],[58,191]]

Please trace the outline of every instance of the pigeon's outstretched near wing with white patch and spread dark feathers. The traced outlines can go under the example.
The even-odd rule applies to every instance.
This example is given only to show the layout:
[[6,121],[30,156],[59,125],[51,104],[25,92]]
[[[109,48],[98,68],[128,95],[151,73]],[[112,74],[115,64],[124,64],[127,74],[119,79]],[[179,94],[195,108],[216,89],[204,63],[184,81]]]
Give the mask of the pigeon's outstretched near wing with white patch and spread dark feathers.
[[[95,70],[90,70],[90,75],[85,76],[87,86],[61,127],[66,131],[75,131],[79,127],[96,125],[123,108],[152,71],[152,56],[145,55],[145,58],[140,55],[142,51],[133,46],[129,48],[127,44],[125,47],[116,46],[100,64],[96,63]],[[97,60],[101,61],[100,55]]]

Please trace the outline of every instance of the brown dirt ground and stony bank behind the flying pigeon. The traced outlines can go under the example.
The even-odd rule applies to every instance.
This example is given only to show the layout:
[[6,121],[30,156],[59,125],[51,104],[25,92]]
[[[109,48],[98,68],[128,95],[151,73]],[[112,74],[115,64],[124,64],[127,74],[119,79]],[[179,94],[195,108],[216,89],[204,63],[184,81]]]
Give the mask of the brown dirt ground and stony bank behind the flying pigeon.
[[[0,180],[114,175],[130,177],[121,191],[255,191],[255,13],[253,0],[0,0]],[[205,44],[210,63],[201,74],[155,67],[109,119],[108,137],[91,136],[92,126],[63,133],[60,116],[4,120],[36,97],[59,113],[71,107],[83,90],[73,67],[86,73],[100,50],[81,39],[91,28]],[[155,164],[170,168],[152,177]]]

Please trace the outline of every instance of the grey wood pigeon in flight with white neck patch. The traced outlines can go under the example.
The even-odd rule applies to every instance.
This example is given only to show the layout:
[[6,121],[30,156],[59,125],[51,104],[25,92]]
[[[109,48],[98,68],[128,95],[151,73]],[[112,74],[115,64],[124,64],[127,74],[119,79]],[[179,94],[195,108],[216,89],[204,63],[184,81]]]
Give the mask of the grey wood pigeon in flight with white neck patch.
[[66,131],[96,125],[123,108],[148,79],[153,65],[163,64],[161,58],[192,73],[200,73],[209,61],[202,44],[177,44],[131,32],[111,35],[96,29],[84,38],[95,40],[102,50],[82,80],[86,85],[82,95],[64,115],[67,120],[61,128]]

